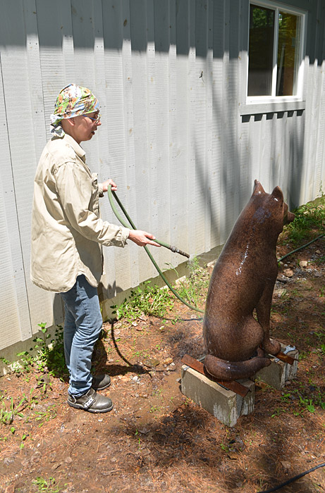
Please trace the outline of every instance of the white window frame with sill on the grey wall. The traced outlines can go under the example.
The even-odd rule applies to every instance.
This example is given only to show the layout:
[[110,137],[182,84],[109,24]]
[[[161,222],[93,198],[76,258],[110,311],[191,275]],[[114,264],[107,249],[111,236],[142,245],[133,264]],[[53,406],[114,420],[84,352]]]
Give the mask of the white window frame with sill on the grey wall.
[[[248,68],[249,68],[249,46],[250,46],[250,6],[251,4],[271,8],[275,11],[275,18],[278,19],[278,11],[285,11],[300,17],[300,53],[298,55],[298,72],[297,72],[297,94],[293,96],[248,96]],[[305,71],[305,47],[307,31],[307,11],[301,8],[287,5],[283,2],[271,0],[250,0],[248,2],[248,19],[247,19],[247,63],[245,67],[245,94],[243,94],[243,104],[240,105],[240,114],[248,115],[254,113],[269,113],[274,111],[295,111],[305,109],[304,99],[304,71]],[[277,73],[277,51],[278,51],[278,23],[274,27],[274,54],[272,70],[272,93],[276,86]],[[244,88],[243,88],[244,89]]]

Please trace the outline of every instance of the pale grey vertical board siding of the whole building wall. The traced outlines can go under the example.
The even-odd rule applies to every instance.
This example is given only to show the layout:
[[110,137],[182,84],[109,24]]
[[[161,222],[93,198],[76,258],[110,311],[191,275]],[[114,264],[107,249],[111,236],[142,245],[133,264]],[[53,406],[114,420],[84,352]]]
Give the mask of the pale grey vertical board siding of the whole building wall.
[[[58,295],[30,283],[30,214],[49,118],[70,82],[90,87],[101,104],[102,125],[84,145],[90,168],[116,180],[137,227],[189,254],[226,241],[255,178],[268,192],[280,185],[290,206],[324,190],[325,6],[283,3],[308,11],[306,108],[241,116],[248,0],[5,2],[0,347],[63,318]],[[106,197],[102,218],[117,221]],[[157,275],[129,243],[104,249],[104,297]],[[184,260],[151,250],[161,268]]]

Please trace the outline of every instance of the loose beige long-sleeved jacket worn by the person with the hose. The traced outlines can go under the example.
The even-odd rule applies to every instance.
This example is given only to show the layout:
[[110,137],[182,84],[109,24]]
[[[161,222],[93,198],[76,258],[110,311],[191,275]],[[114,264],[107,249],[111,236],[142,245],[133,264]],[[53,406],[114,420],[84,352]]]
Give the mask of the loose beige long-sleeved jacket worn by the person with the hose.
[[124,246],[129,231],[99,217],[97,173],[90,173],[85,151],[70,135],[53,137],[37,166],[32,205],[31,280],[66,292],[84,274],[97,287],[102,245]]

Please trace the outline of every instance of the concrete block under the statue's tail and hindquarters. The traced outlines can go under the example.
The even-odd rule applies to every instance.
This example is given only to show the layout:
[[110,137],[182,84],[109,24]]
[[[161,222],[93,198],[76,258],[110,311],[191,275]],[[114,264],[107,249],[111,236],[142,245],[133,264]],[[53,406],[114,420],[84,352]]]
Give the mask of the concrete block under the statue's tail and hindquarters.
[[209,380],[196,370],[185,365],[182,366],[182,393],[227,426],[235,426],[240,416],[254,411],[254,382],[252,380],[238,381],[250,390],[246,397],[240,397],[235,392],[224,389],[216,382]]

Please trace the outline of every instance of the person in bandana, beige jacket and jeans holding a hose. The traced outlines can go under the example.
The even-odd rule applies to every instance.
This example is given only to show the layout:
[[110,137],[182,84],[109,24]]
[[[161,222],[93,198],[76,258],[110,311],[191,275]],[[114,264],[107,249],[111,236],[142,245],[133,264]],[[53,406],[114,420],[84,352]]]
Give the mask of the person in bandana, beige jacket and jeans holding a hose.
[[31,279],[59,292],[64,302],[64,352],[70,375],[68,404],[92,413],[111,411],[111,399],[96,390],[109,387],[108,375],[92,377],[92,352],[102,330],[97,286],[102,275],[102,245],[152,244],[153,235],[129,230],[99,217],[99,196],[113,180],[97,183],[80,143],[101,125],[99,103],[85,87],[64,87],[51,115],[53,137],[35,175],[32,206]]

